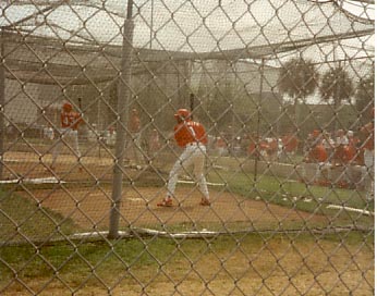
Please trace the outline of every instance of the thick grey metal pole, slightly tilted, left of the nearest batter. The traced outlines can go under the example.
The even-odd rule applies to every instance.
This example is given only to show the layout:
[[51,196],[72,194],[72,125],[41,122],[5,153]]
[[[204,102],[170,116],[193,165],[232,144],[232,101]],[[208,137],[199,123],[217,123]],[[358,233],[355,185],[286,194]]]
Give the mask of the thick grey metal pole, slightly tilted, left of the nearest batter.
[[120,207],[122,199],[123,181],[123,158],[126,140],[126,125],[129,119],[129,101],[131,98],[131,74],[132,74],[132,53],[133,53],[133,34],[134,22],[132,20],[133,0],[127,2],[127,14],[124,20],[123,47],[121,60],[121,75],[118,83],[118,121],[115,139],[115,163],[113,166],[110,225],[108,238],[119,237]]

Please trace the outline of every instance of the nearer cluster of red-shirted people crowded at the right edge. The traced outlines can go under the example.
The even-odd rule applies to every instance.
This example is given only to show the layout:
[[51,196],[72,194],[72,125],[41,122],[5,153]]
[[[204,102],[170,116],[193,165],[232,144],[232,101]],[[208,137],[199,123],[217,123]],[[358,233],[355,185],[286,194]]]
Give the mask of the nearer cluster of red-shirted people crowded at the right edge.
[[[372,112],[372,121],[363,125],[357,133],[338,130],[335,137],[331,137],[327,132],[315,130],[308,135],[304,148],[304,162],[316,165],[314,183],[329,184],[329,173],[338,168],[340,173],[337,183],[340,187],[356,187],[357,184],[363,184],[367,199],[373,198],[375,173],[374,109]],[[361,171],[357,182],[352,178],[355,168]],[[324,176],[324,173],[327,175]],[[306,177],[305,171],[303,177]]]

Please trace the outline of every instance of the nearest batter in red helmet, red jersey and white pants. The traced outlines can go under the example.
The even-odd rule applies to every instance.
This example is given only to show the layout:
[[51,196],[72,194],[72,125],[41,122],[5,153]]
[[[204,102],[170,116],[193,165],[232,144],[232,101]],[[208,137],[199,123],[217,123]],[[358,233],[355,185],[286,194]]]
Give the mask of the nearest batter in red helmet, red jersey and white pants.
[[174,138],[178,146],[184,148],[169,174],[168,193],[158,207],[172,207],[178,177],[183,170],[194,165],[194,175],[203,194],[200,206],[210,206],[207,181],[204,175],[207,135],[204,126],[191,120],[188,110],[179,109],[174,114],[178,124],[174,126]]

